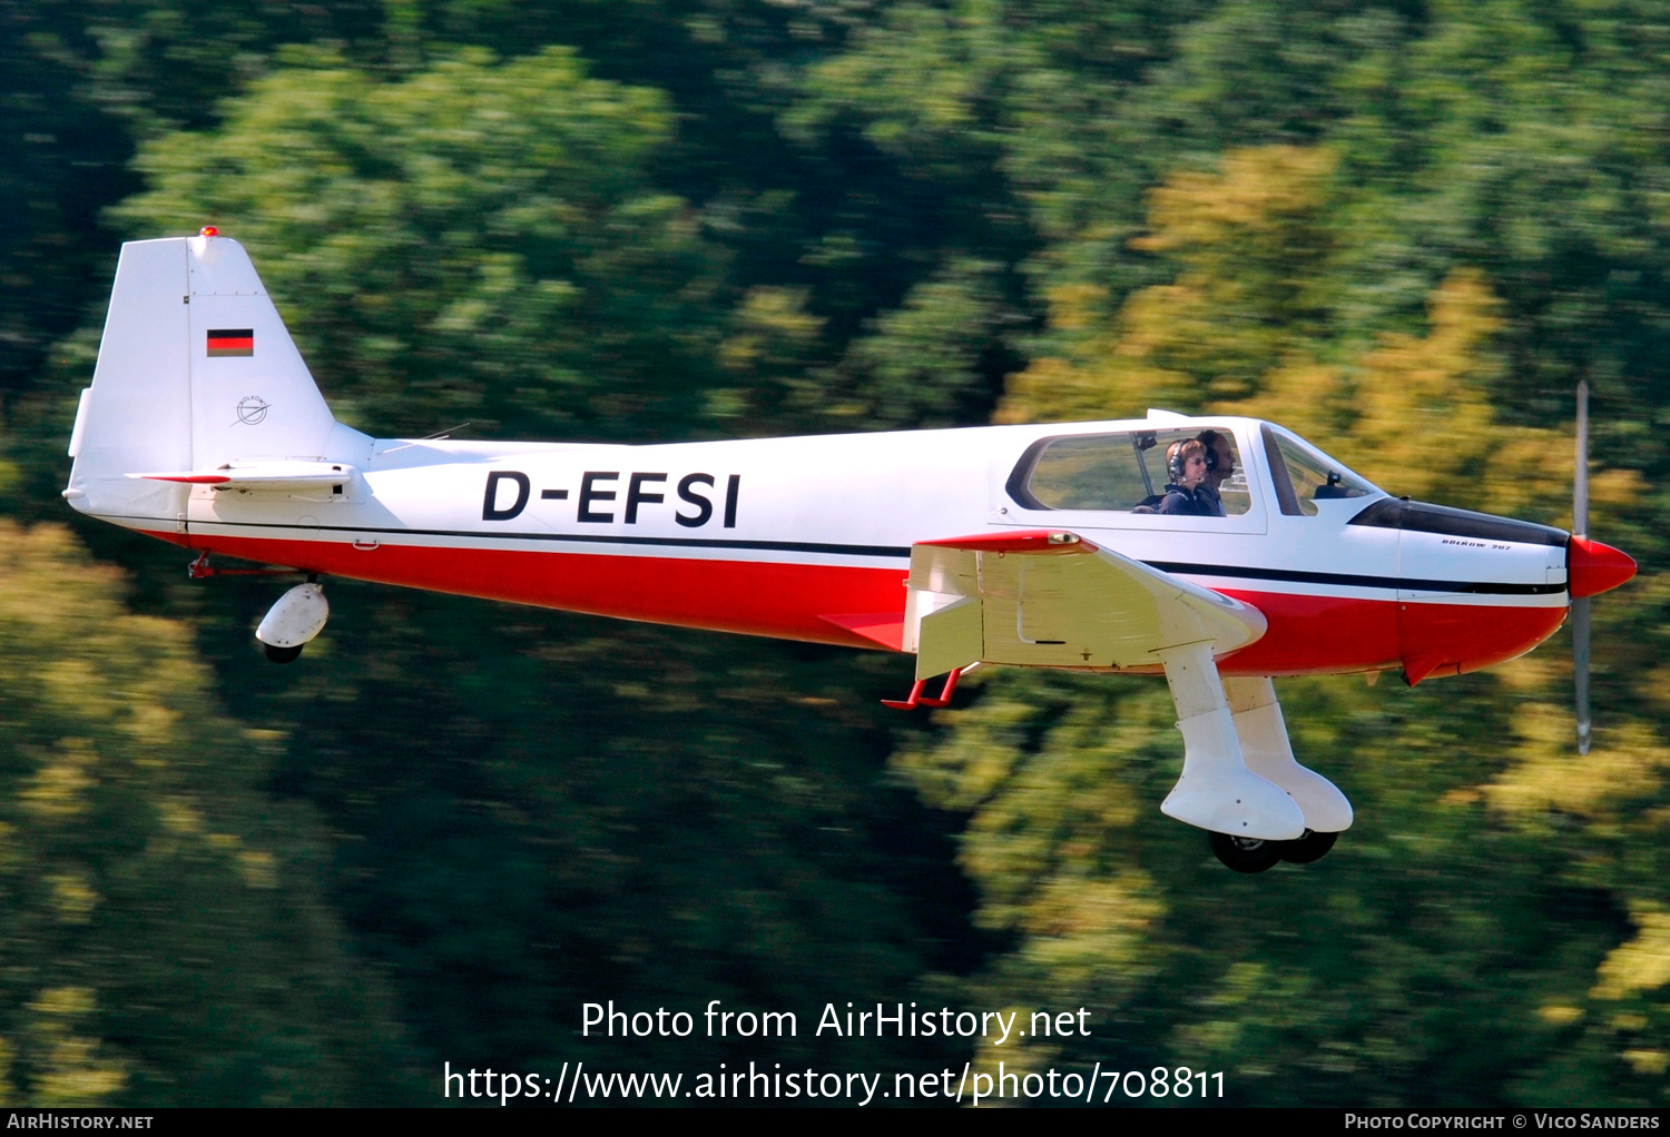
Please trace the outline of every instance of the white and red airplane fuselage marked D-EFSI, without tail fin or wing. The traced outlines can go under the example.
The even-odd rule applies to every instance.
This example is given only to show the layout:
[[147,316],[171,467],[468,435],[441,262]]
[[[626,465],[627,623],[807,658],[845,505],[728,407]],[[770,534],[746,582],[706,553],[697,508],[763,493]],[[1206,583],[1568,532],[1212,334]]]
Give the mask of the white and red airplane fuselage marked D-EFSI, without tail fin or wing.
[[1019,489],[1040,439],[1152,429],[1144,419],[665,446],[364,439],[334,454],[351,474],[331,493],[180,486],[184,521],[149,531],[366,581],[898,649],[912,544],[1067,529],[1258,608],[1269,629],[1219,661],[1226,675],[1471,671],[1565,618],[1556,529],[1364,524],[1371,508],[1411,508],[1378,491],[1289,516],[1261,424],[1162,424],[1234,432],[1242,513],[1052,509]]

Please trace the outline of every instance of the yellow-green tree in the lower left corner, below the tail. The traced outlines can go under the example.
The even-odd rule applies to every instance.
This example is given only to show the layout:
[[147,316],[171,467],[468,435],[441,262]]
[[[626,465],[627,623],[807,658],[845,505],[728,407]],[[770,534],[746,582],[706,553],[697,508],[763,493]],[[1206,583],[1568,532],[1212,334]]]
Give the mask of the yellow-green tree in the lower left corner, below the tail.
[[33,1105],[386,1100],[407,1055],[177,623],[67,533],[0,526],[0,1087]]

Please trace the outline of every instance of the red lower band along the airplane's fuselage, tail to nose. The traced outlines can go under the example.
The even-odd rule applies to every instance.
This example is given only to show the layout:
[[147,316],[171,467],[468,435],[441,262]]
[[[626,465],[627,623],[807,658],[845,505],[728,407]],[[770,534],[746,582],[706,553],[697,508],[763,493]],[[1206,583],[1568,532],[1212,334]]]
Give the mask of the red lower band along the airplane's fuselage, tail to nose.
[[[150,536],[192,549],[382,584],[872,649],[880,646],[873,638],[828,618],[863,613],[865,621],[858,623],[873,623],[882,613],[897,611],[903,619],[908,576],[903,564],[863,568],[414,544],[359,549],[342,541]],[[1239,588],[1217,591],[1252,604],[1269,621],[1263,639],[1221,661],[1224,675],[1339,675],[1398,668],[1404,659],[1433,656],[1460,671],[1475,671],[1530,651],[1560,628],[1566,611],[1563,606],[1399,604]]]

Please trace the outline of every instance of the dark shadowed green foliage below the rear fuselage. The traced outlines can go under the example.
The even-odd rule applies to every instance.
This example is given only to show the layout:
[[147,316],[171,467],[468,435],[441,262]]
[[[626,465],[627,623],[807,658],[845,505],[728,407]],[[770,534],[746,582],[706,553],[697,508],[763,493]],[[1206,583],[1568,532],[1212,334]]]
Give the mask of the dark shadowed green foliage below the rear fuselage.
[[[606,998],[793,1010],[800,1035],[768,1050],[785,1067],[957,1054],[812,1032],[825,1000],[908,1000],[967,953],[935,942],[967,903],[940,823],[885,780],[873,695],[897,661],[329,588],[309,670],[254,676],[249,713],[291,733],[286,791],[356,835],[336,897],[426,1067],[765,1057],[578,1037]],[[210,644],[239,670],[244,623]]]

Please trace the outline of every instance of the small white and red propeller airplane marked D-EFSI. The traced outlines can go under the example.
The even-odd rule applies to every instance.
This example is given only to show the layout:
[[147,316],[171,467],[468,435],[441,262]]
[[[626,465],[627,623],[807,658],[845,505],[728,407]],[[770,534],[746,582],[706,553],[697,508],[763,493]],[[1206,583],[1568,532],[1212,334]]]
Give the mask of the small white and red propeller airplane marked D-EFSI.
[[1184,760],[1161,810],[1237,872],[1313,862],[1353,821],[1296,761],[1273,678],[1486,668],[1635,573],[1581,533],[1393,498],[1232,416],[372,439],[334,419],[212,227],[122,245],[68,452],[75,509],[199,553],[194,576],[306,573],[256,633],[279,663],[324,628],[329,574],[913,653],[900,708],[945,706],[980,665],[1164,675]]

